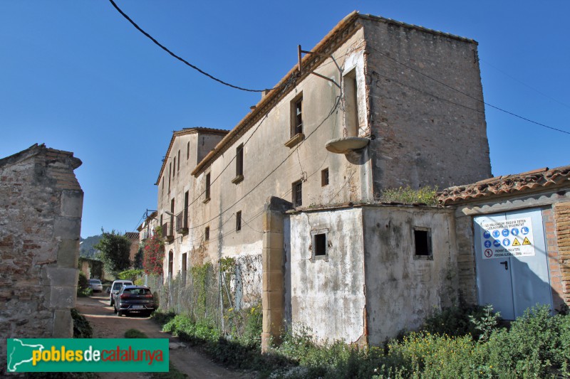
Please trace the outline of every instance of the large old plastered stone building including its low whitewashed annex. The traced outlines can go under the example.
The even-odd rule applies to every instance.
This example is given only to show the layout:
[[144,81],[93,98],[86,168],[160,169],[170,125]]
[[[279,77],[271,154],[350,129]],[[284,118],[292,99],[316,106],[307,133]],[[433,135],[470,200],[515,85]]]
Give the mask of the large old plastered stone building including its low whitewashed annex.
[[477,43],[355,12],[299,53],[231,131],[172,136],[165,277],[258,257],[264,344],[284,319],[378,343],[457,294],[452,212],[377,196],[490,176]]

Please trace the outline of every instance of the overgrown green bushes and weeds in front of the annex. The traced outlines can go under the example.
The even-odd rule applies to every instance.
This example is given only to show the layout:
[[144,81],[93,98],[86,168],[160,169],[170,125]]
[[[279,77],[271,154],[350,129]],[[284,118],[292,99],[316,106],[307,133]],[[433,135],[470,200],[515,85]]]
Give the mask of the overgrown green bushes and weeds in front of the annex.
[[219,328],[189,316],[169,318],[163,330],[202,346],[217,361],[258,370],[261,377],[570,378],[570,316],[551,316],[546,306],[528,310],[509,328],[497,322],[489,306],[435,311],[420,331],[379,348],[341,342],[317,346],[308,331],[286,333],[264,355],[257,339],[261,316],[248,319],[251,329],[242,336],[223,336]]

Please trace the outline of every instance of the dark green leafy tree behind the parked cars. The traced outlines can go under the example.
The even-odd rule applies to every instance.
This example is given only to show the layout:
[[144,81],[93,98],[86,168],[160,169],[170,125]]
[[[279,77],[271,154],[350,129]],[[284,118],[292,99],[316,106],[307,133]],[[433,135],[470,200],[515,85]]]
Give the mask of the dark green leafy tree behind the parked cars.
[[101,252],[100,257],[105,269],[111,272],[124,271],[130,267],[130,240],[125,235],[120,235],[115,230],[105,232],[95,245],[95,249]]

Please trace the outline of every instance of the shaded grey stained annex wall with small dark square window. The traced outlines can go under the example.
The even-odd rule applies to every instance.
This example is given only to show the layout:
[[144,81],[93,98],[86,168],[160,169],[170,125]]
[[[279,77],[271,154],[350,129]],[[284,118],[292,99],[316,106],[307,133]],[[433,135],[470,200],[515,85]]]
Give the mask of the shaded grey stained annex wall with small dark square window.
[[[429,228],[432,257],[415,256],[414,227]],[[414,329],[433,309],[457,299],[457,255],[450,210],[363,208],[369,342]]]

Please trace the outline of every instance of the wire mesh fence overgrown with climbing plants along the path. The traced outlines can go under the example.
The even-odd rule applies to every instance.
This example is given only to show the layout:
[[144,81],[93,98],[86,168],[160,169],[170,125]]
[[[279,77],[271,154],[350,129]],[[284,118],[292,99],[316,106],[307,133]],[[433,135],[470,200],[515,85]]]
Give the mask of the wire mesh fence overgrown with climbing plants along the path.
[[145,284],[161,311],[190,316],[224,334],[241,335],[249,316],[261,313],[261,255],[222,258],[175,277],[148,275]]

